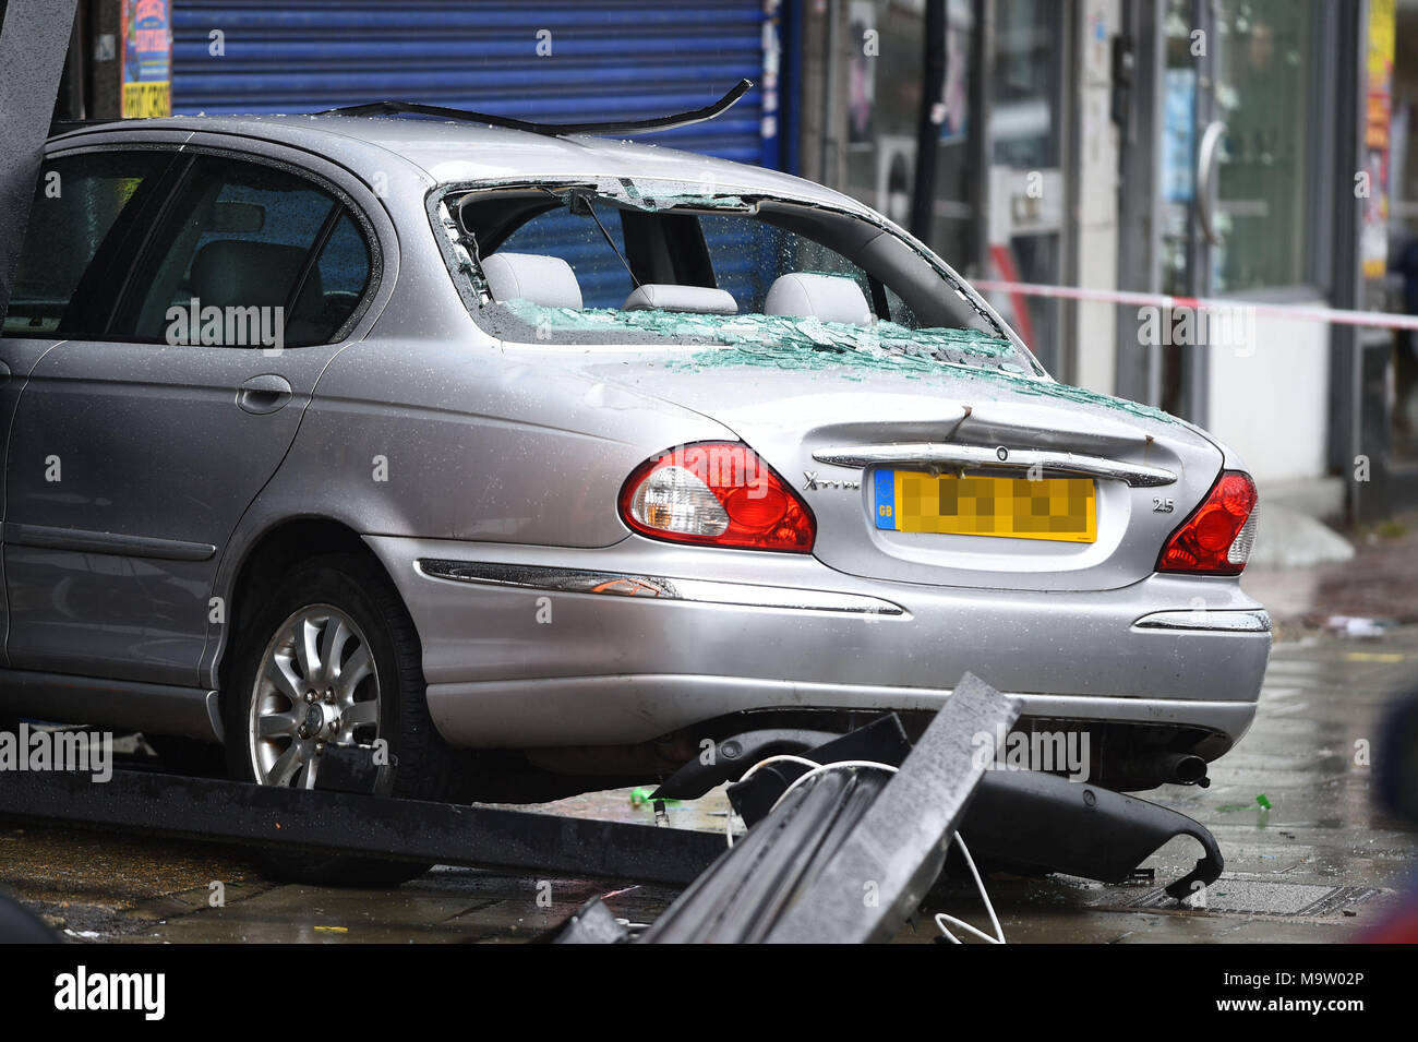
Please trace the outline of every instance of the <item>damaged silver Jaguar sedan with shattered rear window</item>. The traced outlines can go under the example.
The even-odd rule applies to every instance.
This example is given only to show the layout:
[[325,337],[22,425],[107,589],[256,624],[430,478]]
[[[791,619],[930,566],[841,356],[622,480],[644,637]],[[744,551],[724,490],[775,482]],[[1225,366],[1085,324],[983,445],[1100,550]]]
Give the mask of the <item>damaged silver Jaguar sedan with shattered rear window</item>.
[[1115,788],[1204,780],[1255,713],[1241,461],[1056,383],[786,174],[457,121],[84,128],[0,363],[9,715],[545,798],[920,723],[966,671]]

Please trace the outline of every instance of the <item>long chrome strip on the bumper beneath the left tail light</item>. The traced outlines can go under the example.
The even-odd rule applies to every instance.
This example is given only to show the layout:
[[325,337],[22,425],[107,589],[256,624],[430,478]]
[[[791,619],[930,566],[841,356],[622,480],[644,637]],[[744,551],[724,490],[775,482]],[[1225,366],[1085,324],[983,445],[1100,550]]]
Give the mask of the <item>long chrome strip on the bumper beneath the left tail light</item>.
[[708,578],[665,578],[631,576],[623,571],[588,571],[540,564],[498,564],[420,557],[417,570],[430,578],[481,586],[510,586],[547,593],[605,594],[610,597],[657,597],[668,601],[737,604],[788,611],[838,611],[859,615],[905,615],[899,604],[864,594],[830,590],[795,590],[780,586],[720,583]]

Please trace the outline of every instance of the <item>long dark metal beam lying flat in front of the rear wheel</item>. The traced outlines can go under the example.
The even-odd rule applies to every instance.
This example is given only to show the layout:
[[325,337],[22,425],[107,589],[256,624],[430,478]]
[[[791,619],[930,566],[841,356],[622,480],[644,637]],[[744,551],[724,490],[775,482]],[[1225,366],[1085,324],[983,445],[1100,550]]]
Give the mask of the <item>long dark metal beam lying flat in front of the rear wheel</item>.
[[391,861],[683,886],[723,835],[533,811],[113,771],[0,774],[0,817]]

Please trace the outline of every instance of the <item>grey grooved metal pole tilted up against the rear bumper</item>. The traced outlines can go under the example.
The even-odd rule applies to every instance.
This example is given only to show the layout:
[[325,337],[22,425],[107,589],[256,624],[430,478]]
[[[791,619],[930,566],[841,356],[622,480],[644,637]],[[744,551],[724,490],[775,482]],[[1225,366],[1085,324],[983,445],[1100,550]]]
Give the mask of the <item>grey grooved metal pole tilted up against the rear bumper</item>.
[[[647,943],[885,941],[940,873],[984,775],[977,734],[1020,716],[1020,700],[966,673],[896,774],[838,767],[788,792],[655,920]],[[583,909],[560,939],[607,939]]]

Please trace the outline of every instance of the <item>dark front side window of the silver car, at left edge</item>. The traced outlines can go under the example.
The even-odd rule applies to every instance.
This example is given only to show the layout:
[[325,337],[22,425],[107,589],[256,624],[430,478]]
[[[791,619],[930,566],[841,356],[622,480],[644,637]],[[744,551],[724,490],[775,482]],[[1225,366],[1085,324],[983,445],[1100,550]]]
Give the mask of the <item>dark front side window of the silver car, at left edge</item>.
[[[89,152],[40,169],[20,252],[6,336],[86,336],[104,315],[86,308],[84,274],[119,214],[170,162],[164,152]],[[60,323],[64,323],[62,332]]]

